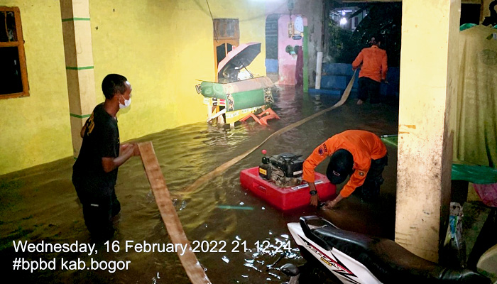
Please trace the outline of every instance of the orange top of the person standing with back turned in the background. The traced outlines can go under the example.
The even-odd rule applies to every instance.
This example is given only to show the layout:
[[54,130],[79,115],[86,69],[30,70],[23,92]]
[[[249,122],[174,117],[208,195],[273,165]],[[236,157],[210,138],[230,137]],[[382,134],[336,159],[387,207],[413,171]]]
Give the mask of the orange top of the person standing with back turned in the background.
[[360,77],[368,77],[376,82],[386,80],[387,58],[386,51],[373,45],[371,48],[364,48],[352,62],[352,69],[356,70],[361,65]]

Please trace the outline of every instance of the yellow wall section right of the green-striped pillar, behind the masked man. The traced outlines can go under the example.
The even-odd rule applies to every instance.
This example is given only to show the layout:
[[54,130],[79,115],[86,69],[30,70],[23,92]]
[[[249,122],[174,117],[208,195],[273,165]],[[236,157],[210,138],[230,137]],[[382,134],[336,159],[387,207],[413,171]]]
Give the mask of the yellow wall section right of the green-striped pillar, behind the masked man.
[[[239,18],[240,43],[263,43],[263,7],[256,11],[245,4],[250,2],[209,4],[214,18]],[[97,100],[104,100],[100,84],[110,72],[126,76],[133,87],[131,109],[118,114],[121,141],[207,117],[203,97],[195,92],[197,80],[215,78],[212,19],[205,1],[90,1],[90,16]],[[264,55],[251,65],[262,75]]]

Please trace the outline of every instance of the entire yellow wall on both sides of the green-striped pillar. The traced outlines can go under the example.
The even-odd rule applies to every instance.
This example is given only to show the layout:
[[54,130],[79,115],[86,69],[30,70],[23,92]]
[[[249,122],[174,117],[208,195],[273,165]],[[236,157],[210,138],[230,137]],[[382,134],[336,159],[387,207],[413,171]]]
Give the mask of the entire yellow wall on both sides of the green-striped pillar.
[[[214,18],[239,18],[240,43],[263,43],[249,67],[266,75],[264,6],[209,1]],[[0,100],[0,175],[72,155],[59,1],[0,0],[21,10],[30,97]],[[97,102],[105,75],[124,75],[131,107],[121,141],[203,121],[197,80],[214,80],[212,19],[201,0],[89,0]]]

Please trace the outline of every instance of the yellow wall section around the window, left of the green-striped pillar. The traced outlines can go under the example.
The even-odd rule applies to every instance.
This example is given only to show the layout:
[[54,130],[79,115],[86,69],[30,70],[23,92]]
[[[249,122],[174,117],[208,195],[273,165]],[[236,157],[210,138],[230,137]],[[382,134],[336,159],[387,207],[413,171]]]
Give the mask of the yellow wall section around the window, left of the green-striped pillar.
[[59,1],[0,0],[18,6],[29,97],[0,99],[0,174],[72,155]]

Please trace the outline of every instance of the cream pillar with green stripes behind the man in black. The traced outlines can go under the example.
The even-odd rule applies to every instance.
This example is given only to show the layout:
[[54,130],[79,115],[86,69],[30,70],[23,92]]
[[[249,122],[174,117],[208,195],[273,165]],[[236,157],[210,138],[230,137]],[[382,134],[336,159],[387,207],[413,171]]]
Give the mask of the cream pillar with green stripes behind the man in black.
[[96,104],[89,0],[60,0],[72,149],[80,152],[84,121]]

